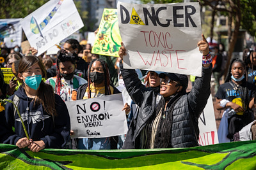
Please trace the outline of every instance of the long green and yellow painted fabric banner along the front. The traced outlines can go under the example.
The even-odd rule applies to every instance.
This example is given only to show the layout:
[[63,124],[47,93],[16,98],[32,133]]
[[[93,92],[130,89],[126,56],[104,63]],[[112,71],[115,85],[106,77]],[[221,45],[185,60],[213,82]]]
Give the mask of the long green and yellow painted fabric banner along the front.
[[0,169],[256,169],[256,141],[152,150],[56,150],[0,145]]

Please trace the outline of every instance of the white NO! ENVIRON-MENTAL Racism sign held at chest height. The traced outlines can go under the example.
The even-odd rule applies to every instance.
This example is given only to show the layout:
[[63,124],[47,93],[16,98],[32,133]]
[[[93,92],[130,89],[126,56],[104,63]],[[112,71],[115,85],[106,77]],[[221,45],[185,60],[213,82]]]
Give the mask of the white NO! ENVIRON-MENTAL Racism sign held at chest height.
[[122,94],[65,103],[74,131],[71,138],[104,138],[127,132]]

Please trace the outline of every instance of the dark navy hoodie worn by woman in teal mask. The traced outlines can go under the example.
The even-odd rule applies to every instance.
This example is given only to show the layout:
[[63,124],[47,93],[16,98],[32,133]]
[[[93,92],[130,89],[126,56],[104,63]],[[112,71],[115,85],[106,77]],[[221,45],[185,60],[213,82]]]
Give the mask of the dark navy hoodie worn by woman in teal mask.
[[[15,92],[19,97],[18,109],[27,129],[30,139],[44,141],[45,148],[63,148],[70,138],[70,118],[67,106],[60,96],[55,96],[55,109],[57,116],[52,118],[43,108],[42,104],[35,104],[33,99],[26,95],[22,86]],[[9,99],[13,100],[13,96]],[[20,138],[26,137],[19,115],[14,117],[14,106],[8,103],[4,113],[1,113],[1,143],[16,145]],[[14,127],[14,129],[13,129]],[[12,131],[14,130],[14,132]]]

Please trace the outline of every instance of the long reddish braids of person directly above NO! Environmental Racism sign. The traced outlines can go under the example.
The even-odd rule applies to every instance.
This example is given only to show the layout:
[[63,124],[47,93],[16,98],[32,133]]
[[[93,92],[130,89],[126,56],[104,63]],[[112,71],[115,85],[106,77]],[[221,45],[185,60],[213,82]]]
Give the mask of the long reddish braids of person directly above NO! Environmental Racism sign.
[[103,59],[93,59],[88,67],[88,98],[91,98],[91,83],[92,80],[90,78],[90,73],[91,73],[91,68],[92,68],[92,64],[95,61],[99,61],[103,71],[104,71],[104,86],[105,86],[105,95],[109,95],[111,94],[111,90],[110,90],[110,85],[111,85],[111,80],[110,80],[110,74],[109,74],[109,69],[108,69],[108,64],[103,60]]

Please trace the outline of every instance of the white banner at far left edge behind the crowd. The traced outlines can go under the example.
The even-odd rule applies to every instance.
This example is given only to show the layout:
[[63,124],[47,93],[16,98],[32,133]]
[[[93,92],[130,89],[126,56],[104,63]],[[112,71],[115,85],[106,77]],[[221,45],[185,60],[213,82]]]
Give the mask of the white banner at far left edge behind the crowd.
[[4,42],[7,48],[13,48],[21,44],[21,19],[22,18],[0,19],[0,42]]

